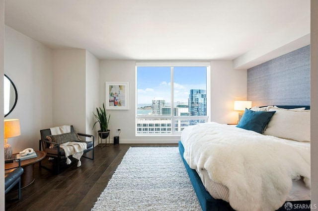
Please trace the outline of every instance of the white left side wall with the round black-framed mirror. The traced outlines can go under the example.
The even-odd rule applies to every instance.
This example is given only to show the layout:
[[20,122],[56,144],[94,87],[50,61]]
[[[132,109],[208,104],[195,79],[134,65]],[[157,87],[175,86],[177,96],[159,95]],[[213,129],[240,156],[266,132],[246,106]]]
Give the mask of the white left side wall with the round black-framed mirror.
[[19,119],[21,128],[21,135],[8,142],[13,153],[38,149],[40,130],[52,125],[52,50],[8,26],[4,43],[4,73],[18,92],[16,107],[5,119]]

